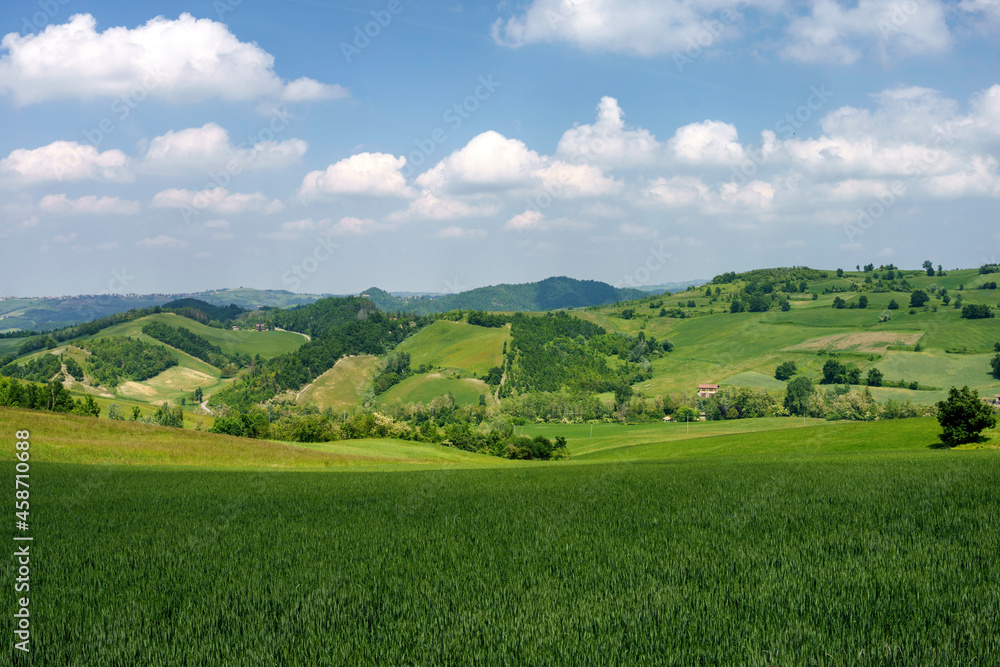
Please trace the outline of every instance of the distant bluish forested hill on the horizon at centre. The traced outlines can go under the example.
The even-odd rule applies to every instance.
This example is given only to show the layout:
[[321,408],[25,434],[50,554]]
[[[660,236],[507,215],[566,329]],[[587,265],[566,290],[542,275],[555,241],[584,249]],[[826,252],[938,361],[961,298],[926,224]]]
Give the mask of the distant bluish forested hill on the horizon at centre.
[[597,280],[546,278],[521,285],[491,285],[467,292],[438,297],[399,298],[373,287],[364,293],[379,310],[418,315],[449,310],[541,311],[600,306],[618,301],[641,299],[645,292],[618,289]]

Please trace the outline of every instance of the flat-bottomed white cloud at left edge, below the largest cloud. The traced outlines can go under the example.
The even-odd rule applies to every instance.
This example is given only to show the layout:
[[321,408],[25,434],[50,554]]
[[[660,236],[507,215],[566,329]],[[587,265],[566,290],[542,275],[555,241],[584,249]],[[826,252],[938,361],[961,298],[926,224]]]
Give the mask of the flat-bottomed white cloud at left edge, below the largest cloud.
[[114,181],[133,178],[129,159],[120,150],[103,153],[89,144],[54,141],[48,146],[18,148],[0,160],[0,171],[29,183],[43,181]]

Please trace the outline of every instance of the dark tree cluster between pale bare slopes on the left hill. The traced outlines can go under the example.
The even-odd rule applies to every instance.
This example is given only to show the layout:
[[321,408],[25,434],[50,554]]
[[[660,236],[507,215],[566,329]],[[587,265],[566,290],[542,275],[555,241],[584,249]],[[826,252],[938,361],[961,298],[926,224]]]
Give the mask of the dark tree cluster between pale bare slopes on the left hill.
[[97,338],[80,345],[90,352],[85,363],[91,379],[105,387],[125,380],[141,382],[177,365],[173,352],[138,339]]

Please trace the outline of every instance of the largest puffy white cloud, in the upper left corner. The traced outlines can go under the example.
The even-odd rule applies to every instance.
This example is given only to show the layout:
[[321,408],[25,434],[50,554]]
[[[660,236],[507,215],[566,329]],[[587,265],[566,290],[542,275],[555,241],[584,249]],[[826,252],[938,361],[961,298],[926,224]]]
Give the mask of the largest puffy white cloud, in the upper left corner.
[[19,105],[57,99],[160,97],[172,102],[208,98],[288,100],[343,97],[337,86],[310,79],[285,84],[274,57],[241,42],[225,24],[181,14],[162,16],[134,29],[97,31],[90,14],[38,34],[7,34],[0,49],[0,90]]

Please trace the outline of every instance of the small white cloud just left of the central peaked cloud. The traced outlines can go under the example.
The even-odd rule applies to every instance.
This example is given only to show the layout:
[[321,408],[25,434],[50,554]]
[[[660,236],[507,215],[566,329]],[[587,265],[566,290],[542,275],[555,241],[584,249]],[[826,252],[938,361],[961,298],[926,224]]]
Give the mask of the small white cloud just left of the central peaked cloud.
[[324,195],[412,197],[401,169],[405,157],[388,153],[358,153],[326,168],[311,171],[302,180],[299,196],[310,201]]

